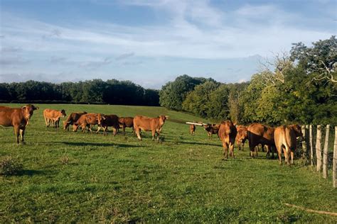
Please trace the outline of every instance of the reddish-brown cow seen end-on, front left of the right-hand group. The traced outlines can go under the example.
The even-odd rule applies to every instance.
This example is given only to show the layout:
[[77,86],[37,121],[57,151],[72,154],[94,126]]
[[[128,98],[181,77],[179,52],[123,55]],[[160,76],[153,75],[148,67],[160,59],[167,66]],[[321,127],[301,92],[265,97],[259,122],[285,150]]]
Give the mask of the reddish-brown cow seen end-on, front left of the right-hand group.
[[228,148],[230,149],[230,156],[234,158],[234,143],[235,137],[237,135],[237,130],[232,121],[223,121],[220,124],[218,136],[223,142],[223,157],[228,159]]

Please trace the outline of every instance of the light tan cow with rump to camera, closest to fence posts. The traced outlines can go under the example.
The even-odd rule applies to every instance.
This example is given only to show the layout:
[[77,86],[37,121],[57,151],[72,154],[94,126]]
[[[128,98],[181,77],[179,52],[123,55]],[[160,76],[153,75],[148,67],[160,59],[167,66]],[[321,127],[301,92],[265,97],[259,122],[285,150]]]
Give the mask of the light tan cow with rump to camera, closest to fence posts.
[[289,164],[289,155],[291,155],[291,164],[294,164],[294,152],[296,150],[296,138],[303,138],[303,133],[299,125],[282,125],[275,128],[274,142],[279,155],[279,164],[282,164],[282,150],[284,159]]

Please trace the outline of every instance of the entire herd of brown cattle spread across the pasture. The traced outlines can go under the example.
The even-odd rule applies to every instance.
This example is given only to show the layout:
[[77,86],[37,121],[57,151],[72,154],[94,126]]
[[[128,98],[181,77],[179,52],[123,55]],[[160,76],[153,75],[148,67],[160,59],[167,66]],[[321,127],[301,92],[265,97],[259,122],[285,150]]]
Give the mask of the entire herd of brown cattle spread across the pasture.
[[[5,127],[14,127],[14,134],[16,136],[16,142],[19,143],[19,135],[21,136],[21,142],[24,142],[23,136],[25,133],[26,125],[28,125],[33,111],[38,107],[28,104],[21,108],[10,108],[7,106],[0,106],[0,125]],[[43,111],[43,117],[46,122],[46,126],[49,123],[53,124],[53,128],[58,128],[60,118],[66,116],[64,110],[45,109]],[[125,134],[125,128],[132,128],[133,132],[137,135],[137,138],[141,140],[141,130],[151,131],[152,140],[157,136],[159,140],[159,134],[168,116],[158,116],[157,118],[149,118],[146,116],[132,117],[118,117],[117,115],[110,114],[105,115],[102,113],[87,113],[87,112],[74,112],[70,113],[67,120],[63,122],[63,129],[69,130],[70,125],[73,125],[73,131],[77,131],[78,128],[82,129],[84,133],[88,129],[92,133],[92,126],[98,125],[97,133],[100,129],[103,130],[104,135],[107,135],[107,128],[112,127],[113,135],[116,135],[119,128],[122,128]],[[213,134],[217,134],[223,143],[223,155],[228,159],[228,150],[230,156],[234,157],[234,145],[237,142],[237,146],[243,149],[245,141],[248,140],[250,147],[250,157],[257,155],[258,145],[262,145],[262,149],[267,147],[267,156],[272,152],[277,152],[279,156],[279,164],[282,164],[282,152],[284,152],[284,158],[287,164],[289,164],[289,157],[291,157],[291,164],[294,162],[294,152],[296,150],[296,140],[301,138],[301,127],[299,125],[282,125],[277,128],[269,127],[261,123],[252,123],[248,126],[235,125],[232,121],[223,121],[220,124],[207,124],[203,125],[208,137],[211,138]],[[191,135],[195,134],[196,125],[190,125]]]

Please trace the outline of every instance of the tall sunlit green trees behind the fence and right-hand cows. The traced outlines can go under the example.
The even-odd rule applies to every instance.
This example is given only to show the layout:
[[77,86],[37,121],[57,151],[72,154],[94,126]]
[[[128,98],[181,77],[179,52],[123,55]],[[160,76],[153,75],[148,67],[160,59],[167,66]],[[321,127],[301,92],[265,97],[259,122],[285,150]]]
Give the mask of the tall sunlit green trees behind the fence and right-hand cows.
[[311,47],[293,44],[290,52],[262,64],[250,82],[222,84],[183,75],[163,86],[161,106],[214,121],[237,123],[337,123],[337,41],[332,36]]

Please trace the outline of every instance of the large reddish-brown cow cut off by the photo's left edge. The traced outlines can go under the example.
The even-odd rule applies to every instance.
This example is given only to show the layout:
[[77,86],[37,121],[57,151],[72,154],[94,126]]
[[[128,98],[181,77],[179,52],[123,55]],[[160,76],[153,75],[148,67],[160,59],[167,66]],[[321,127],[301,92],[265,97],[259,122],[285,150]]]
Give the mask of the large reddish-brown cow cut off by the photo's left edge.
[[7,106],[0,106],[0,125],[4,127],[14,127],[14,134],[16,135],[16,142],[18,143],[18,135],[21,135],[21,142],[24,142],[26,125],[29,119],[33,116],[33,111],[38,107],[28,104],[21,108],[10,108]]

